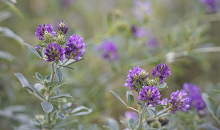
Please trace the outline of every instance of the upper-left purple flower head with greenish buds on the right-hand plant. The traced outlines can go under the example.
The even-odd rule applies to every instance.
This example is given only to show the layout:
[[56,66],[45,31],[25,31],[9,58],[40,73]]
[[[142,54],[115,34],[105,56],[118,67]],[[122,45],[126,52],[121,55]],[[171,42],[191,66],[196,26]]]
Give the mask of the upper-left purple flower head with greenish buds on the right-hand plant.
[[129,75],[127,76],[127,83],[124,84],[125,87],[130,87],[131,90],[138,91],[133,83],[138,83],[138,80],[143,81],[149,77],[148,73],[144,69],[141,69],[139,66],[134,67],[133,70],[129,70]]

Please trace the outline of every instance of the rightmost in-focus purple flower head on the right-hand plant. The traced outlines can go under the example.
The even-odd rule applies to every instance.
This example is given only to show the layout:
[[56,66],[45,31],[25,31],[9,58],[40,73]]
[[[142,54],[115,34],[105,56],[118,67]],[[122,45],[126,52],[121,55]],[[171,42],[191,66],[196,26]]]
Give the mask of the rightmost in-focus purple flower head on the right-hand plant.
[[175,114],[175,111],[182,110],[185,112],[189,107],[189,98],[186,97],[187,93],[177,90],[173,92],[170,97],[171,111],[170,113]]

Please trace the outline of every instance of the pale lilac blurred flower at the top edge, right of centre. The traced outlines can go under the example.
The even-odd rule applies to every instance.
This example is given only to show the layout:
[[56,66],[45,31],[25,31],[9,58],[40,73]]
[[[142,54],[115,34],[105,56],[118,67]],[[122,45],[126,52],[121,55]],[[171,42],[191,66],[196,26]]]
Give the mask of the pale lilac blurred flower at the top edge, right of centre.
[[150,1],[141,1],[135,0],[134,1],[134,15],[137,17],[138,20],[143,21],[146,15],[151,15],[151,3]]

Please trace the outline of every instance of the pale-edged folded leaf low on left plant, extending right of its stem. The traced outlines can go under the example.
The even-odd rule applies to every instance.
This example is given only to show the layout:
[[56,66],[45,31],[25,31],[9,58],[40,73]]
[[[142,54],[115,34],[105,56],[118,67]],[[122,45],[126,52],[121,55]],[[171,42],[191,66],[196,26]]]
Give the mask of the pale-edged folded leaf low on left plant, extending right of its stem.
[[92,112],[92,109],[89,109],[85,106],[79,106],[71,111],[73,116],[86,115]]

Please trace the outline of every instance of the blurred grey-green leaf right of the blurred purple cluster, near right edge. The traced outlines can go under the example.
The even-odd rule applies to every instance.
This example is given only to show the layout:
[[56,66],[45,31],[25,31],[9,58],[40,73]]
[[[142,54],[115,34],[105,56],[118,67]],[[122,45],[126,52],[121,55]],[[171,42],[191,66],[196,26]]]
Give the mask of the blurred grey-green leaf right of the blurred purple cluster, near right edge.
[[202,98],[205,101],[209,112],[212,115],[216,116],[216,105],[214,100],[211,97],[209,97],[207,93],[202,93]]

